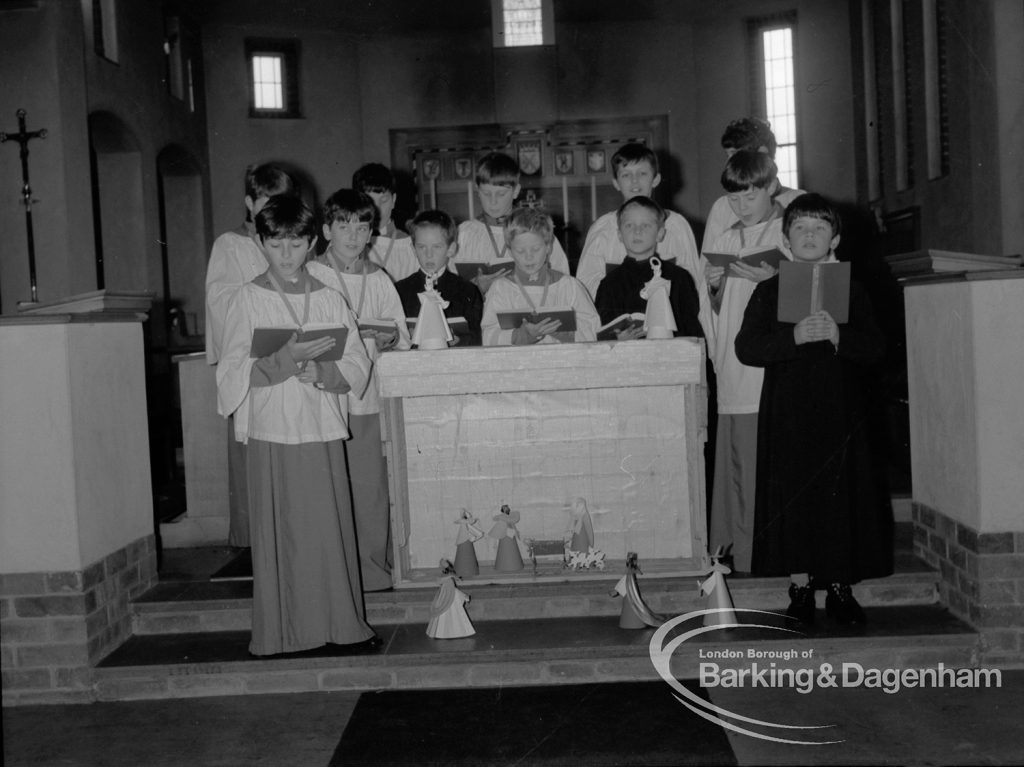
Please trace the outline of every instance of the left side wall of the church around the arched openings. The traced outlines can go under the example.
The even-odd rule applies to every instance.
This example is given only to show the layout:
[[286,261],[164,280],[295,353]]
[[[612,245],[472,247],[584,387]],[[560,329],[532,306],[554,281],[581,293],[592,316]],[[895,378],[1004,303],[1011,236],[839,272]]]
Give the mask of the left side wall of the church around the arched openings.
[[[118,5],[118,61],[93,50],[92,32],[83,8],[90,3],[39,0],[17,10],[0,11],[0,69],[4,72],[4,130],[14,125],[15,109],[29,113],[29,130],[46,128],[45,139],[30,143],[30,173],[36,240],[39,300],[54,301],[97,288],[95,241],[89,169],[90,115],[111,116],[125,127],[131,144],[114,152],[106,171],[113,188],[101,188],[111,201],[102,227],[104,243],[113,248],[114,268],[109,288],[162,293],[160,211],[157,156],[174,143],[184,147],[206,171],[206,117],[202,99],[202,66],[196,110],[170,95],[166,87],[164,17],[157,2]],[[8,109],[9,108],[9,109]],[[11,114],[8,114],[11,113]],[[44,146],[45,142],[45,146]],[[13,184],[20,178],[17,152],[5,145],[0,153],[0,177]],[[108,148],[112,148],[108,146]],[[125,165],[133,166],[125,173]],[[126,187],[117,184],[131,179]],[[10,194],[17,187],[11,186]],[[203,232],[202,260],[208,235],[208,186],[202,186],[203,214],[194,226]],[[10,232],[4,253],[3,310],[14,310],[29,299],[28,247],[24,210],[3,206],[0,222]],[[128,221],[128,218],[133,221]],[[131,233],[125,236],[126,227]],[[121,251],[118,250],[118,245]],[[112,264],[114,266],[114,264]],[[183,297],[184,298],[184,297]],[[202,296],[191,297],[202,301]]]

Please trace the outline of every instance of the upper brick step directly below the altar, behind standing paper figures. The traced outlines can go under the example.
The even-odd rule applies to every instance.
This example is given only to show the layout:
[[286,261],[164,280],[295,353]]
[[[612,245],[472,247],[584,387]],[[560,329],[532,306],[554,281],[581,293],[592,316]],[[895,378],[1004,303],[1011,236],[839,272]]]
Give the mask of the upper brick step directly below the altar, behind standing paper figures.
[[[609,592],[621,573],[606,580],[563,583],[473,586],[462,584],[472,598],[474,621],[510,621],[617,615],[620,600]],[[938,573],[907,552],[897,552],[896,573],[864,581],[854,594],[865,606],[933,604]],[[730,578],[738,607],[784,609],[787,579]],[[681,614],[705,606],[695,578],[641,578],[644,598],[652,609]],[[415,588],[367,594],[367,620],[372,626],[426,625],[434,590]],[[824,602],[818,595],[819,603]],[[159,584],[133,603],[133,634],[188,634],[208,631],[249,631],[252,582],[190,582]]]

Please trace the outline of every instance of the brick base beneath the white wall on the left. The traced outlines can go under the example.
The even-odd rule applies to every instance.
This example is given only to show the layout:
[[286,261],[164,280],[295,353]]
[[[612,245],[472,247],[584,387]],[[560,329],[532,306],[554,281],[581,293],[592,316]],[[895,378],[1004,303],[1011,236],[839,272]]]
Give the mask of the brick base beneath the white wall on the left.
[[131,635],[130,601],[156,582],[152,535],[84,570],[0,574],[3,705],[93,700],[92,668]]

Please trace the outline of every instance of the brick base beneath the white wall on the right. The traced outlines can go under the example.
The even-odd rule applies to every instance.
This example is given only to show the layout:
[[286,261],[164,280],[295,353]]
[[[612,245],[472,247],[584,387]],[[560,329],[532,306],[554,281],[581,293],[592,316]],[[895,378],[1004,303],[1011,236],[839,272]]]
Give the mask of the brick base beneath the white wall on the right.
[[914,503],[914,553],[941,574],[939,598],[982,634],[987,664],[1024,664],[1024,532],[981,532]]

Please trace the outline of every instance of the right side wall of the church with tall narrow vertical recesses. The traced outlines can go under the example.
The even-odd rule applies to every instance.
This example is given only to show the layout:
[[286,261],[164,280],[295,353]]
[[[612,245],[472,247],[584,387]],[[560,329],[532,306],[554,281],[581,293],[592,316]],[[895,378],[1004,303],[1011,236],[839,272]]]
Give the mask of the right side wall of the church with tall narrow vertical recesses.
[[[1024,250],[1024,7],[1014,0],[948,0],[942,43],[947,73],[948,169],[928,177],[923,85],[922,4],[904,4],[910,181],[898,188],[893,136],[893,63],[889,3],[876,0],[874,36],[882,215],[920,210],[920,247],[988,255]],[[1015,68],[1016,66],[1016,68]],[[858,118],[862,119],[859,112]]]

